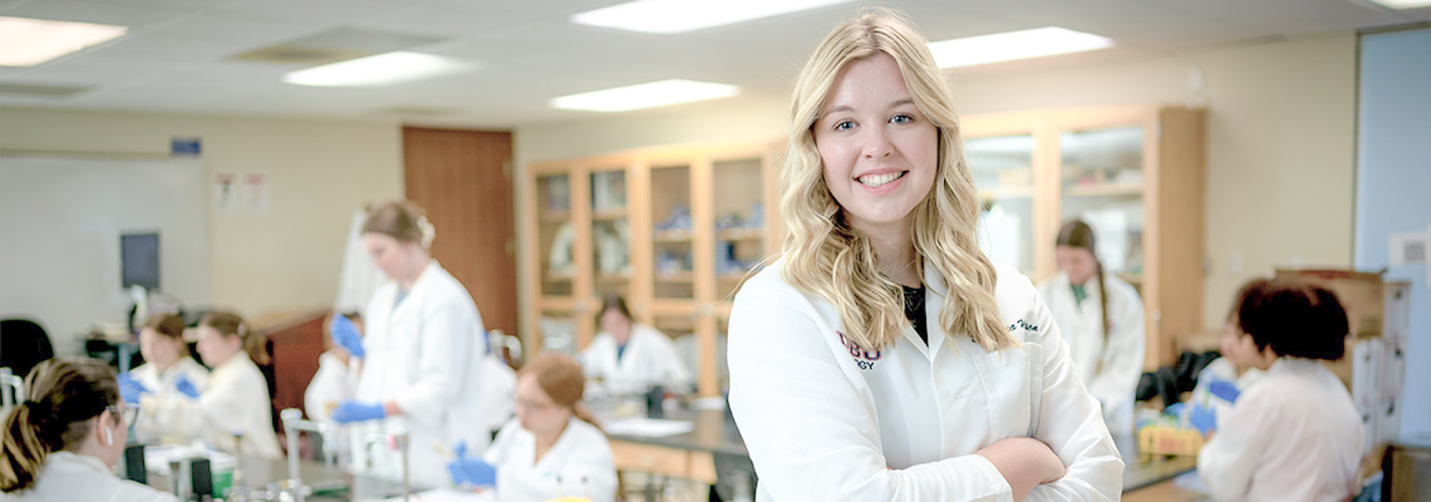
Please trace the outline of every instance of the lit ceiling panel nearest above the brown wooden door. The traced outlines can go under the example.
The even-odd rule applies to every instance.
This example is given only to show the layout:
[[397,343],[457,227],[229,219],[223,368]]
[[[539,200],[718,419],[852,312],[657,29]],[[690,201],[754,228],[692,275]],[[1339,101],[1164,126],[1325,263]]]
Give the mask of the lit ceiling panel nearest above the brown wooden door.
[[399,50],[289,72],[283,76],[283,82],[319,87],[376,87],[435,79],[467,72],[475,66],[451,57]]

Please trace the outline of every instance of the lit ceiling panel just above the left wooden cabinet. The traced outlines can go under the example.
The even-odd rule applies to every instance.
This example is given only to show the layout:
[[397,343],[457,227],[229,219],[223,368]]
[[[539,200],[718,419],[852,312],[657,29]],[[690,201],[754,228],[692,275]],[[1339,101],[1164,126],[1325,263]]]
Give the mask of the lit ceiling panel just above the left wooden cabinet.
[[590,93],[552,97],[551,107],[562,110],[625,112],[657,106],[704,102],[730,97],[740,87],[694,80],[661,80],[643,84],[592,90]]

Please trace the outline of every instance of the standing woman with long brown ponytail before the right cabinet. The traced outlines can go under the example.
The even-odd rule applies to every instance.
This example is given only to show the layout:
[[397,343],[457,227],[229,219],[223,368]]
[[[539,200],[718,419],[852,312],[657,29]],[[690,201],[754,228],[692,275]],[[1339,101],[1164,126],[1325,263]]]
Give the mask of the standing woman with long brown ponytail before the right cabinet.
[[1093,229],[1080,220],[1059,229],[1059,275],[1039,286],[1069,345],[1073,369],[1103,405],[1116,436],[1133,433],[1133,402],[1143,376],[1143,300],[1132,285],[1103,272]]

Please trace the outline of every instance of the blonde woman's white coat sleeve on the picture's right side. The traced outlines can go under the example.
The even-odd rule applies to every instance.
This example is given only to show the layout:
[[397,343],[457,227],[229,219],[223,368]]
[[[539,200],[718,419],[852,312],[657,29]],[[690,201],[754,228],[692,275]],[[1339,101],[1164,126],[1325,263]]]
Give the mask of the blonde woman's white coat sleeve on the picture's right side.
[[1053,313],[1033,295],[1032,285],[1027,289],[1033,297],[1030,318],[1042,328],[1036,340],[1043,352],[1043,392],[1033,436],[1053,449],[1068,473],[1036,486],[1026,501],[1118,501],[1123,489],[1123,461],[1098,400],[1073,370],[1069,346]]

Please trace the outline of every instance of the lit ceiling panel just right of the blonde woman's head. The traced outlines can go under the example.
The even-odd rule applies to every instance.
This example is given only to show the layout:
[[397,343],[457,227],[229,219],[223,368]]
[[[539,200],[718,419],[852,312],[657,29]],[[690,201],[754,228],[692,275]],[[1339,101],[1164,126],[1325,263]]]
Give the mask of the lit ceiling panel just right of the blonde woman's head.
[[1058,26],[934,41],[929,50],[942,69],[1012,61],[1108,49],[1112,39]]

